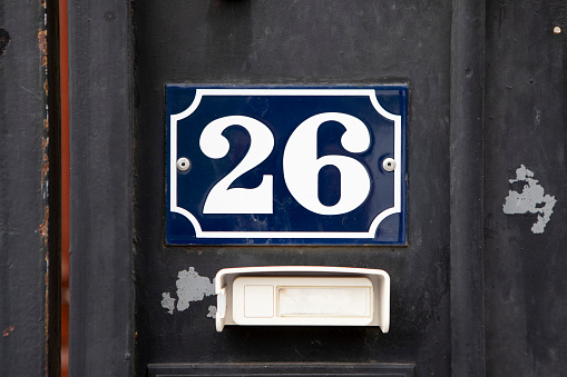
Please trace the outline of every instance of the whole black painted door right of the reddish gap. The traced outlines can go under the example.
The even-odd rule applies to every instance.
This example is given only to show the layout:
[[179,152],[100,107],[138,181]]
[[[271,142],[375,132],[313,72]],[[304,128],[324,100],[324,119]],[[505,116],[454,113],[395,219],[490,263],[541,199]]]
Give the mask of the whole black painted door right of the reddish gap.
[[[550,0],[71,4],[71,374],[561,375],[566,12]],[[408,245],[166,245],[169,83],[407,85]],[[390,331],[216,331],[219,269],[290,265],[389,272]]]

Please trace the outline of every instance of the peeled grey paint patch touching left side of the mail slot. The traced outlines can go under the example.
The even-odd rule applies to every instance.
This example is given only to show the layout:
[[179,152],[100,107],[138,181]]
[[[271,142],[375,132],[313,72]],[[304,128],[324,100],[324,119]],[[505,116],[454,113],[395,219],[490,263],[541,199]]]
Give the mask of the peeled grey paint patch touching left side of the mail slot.
[[[175,309],[184,311],[189,307],[190,302],[202,301],[205,297],[215,294],[215,285],[206,276],[198,275],[194,267],[189,267],[188,270],[180,270],[177,274],[177,298],[172,297],[170,292],[162,294],[162,307],[167,309],[167,312],[173,315]],[[177,305],[175,301],[177,300]],[[212,317],[211,307],[207,317]],[[215,308],[216,312],[216,308]],[[212,317],[214,318],[214,317]]]

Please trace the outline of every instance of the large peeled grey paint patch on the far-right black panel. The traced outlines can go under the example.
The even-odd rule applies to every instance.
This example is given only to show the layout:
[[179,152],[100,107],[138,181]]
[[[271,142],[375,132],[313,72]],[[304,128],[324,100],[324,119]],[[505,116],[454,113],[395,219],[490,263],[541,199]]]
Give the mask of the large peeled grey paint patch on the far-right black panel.
[[525,182],[521,192],[509,190],[502,210],[507,215],[537,214],[537,221],[531,227],[534,234],[542,234],[554,212],[557,202],[555,196],[545,195],[545,189],[534,179],[534,172],[521,165],[516,169],[516,179],[510,185]]

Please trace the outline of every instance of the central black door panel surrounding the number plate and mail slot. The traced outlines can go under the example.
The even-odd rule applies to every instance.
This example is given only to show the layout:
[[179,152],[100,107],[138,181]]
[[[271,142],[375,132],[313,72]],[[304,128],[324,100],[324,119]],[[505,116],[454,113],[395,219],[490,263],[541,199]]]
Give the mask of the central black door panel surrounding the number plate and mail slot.
[[[448,376],[450,1],[140,0],[135,22],[136,371],[150,363],[414,363]],[[165,247],[164,85],[408,82],[409,246]],[[226,327],[214,296],[173,315],[163,294],[194,267],[369,267],[392,278],[377,327]]]

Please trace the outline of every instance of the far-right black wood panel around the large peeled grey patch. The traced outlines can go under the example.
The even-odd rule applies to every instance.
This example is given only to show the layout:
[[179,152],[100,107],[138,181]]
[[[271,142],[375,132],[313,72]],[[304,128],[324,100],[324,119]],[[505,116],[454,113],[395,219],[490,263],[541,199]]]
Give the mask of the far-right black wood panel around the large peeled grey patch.
[[[559,33],[554,29],[560,28]],[[567,3],[487,1],[485,227],[488,376],[567,370]],[[524,165],[554,196],[549,221],[506,215]]]

